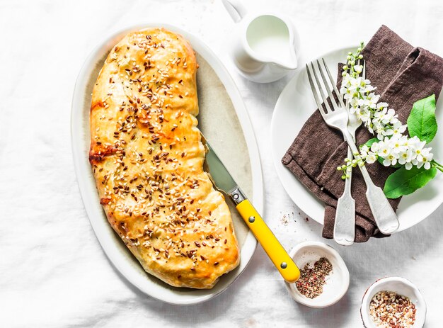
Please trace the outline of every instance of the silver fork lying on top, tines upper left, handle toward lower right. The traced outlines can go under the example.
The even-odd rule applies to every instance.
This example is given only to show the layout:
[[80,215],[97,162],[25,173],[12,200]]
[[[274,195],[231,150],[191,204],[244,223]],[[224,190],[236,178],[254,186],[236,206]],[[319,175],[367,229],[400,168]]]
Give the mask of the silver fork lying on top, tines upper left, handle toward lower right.
[[[326,70],[328,74],[330,84],[332,84],[335,94],[339,95],[339,92],[337,86],[335,86],[333,77],[330,74],[328,67],[326,66],[325,60],[322,59],[322,61],[325,69],[322,69],[321,64],[318,60],[316,61],[316,63],[318,67],[318,72],[320,72],[321,79],[323,80],[323,86],[320,82],[320,79],[318,79],[318,74],[313,66],[313,62],[311,62],[311,70],[316,81],[318,93],[320,94],[321,99],[323,100],[323,103],[325,105],[324,110],[321,101],[318,98],[318,93],[312,79],[311,71],[308,64],[306,64],[306,72],[308,73],[309,84],[311,85],[313,98],[315,99],[318,106],[318,111],[320,111],[321,116],[323,117],[323,120],[325,120],[327,125],[329,125],[331,128],[340,130],[340,132],[343,133],[343,137],[345,138],[347,145],[349,145],[352,153],[359,154],[357,146],[352,139],[352,135],[347,130],[347,122],[349,120],[349,116],[347,114],[345,104],[343,103],[343,99],[340,96],[338,96],[338,103],[337,101],[335,101],[331,88],[328,85],[328,81],[326,80],[324,70]],[[323,89],[326,90],[333,108],[330,108],[328,98],[325,96]],[[366,183],[366,198],[369,203],[369,208],[372,211],[372,215],[374,215],[374,220],[377,227],[379,227],[380,232],[383,234],[391,234],[395,232],[398,229],[399,222],[396,213],[391,207],[391,204],[389,204],[389,201],[384,195],[384,192],[381,190],[381,188],[376,186],[374,182],[372,182],[366,166],[357,166],[359,167],[360,171],[362,171],[364,183]]]

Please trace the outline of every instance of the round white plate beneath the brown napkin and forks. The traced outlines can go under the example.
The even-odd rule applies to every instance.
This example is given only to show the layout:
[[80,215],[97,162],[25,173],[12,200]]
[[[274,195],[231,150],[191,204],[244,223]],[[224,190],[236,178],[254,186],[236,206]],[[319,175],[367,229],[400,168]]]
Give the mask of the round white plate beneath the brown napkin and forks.
[[[347,52],[355,48],[345,47],[329,52],[321,57],[325,58],[334,77],[337,76],[337,63],[346,59]],[[272,160],[277,174],[282,181],[289,197],[294,203],[313,220],[323,224],[324,203],[318,200],[297,178],[282,164],[281,159],[294,141],[309,116],[312,115],[314,103],[309,87],[306,68],[297,70],[296,74],[284,88],[275,104],[271,123]],[[443,101],[437,102],[437,122],[443,128]],[[437,159],[443,156],[443,140],[437,135],[431,142]],[[338,176],[340,179],[340,176]],[[401,230],[416,225],[434,212],[443,203],[443,193],[439,192],[443,183],[443,174],[437,174],[434,180],[424,188],[402,198],[398,206],[397,215]]]

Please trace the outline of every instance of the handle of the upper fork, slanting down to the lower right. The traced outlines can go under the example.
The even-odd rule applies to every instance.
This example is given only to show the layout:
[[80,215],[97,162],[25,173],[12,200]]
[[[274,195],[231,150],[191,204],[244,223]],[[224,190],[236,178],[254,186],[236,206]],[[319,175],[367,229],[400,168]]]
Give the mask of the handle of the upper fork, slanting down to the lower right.
[[[354,140],[352,140],[350,132],[347,131],[347,129],[342,130],[342,132],[352,152],[359,153]],[[366,166],[359,166],[359,169],[362,171],[364,183],[366,183],[366,199],[369,203],[369,208],[371,208],[372,215],[374,215],[377,227],[379,227],[380,232],[383,234],[391,234],[395,232],[398,230],[400,223],[398,222],[397,215],[393,211],[388,198],[384,195],[383,190],[372,182]]]

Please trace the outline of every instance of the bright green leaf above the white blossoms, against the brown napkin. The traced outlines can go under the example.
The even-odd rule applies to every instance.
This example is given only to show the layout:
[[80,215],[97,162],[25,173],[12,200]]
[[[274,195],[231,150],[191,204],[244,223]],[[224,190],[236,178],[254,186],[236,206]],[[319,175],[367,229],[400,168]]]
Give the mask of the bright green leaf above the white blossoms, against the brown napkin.
[[420,140],[431,142],[437,133],[435,119],[435,95],[415,101],[413,110],[408,117],[408,131],[411,137],[417,136]]

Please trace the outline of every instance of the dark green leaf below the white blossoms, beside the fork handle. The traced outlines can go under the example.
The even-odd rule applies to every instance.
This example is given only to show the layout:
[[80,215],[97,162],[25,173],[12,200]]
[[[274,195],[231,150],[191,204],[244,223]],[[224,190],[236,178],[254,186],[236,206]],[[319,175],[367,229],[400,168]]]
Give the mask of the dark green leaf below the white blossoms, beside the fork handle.
[[402,166],[393,172],[386,180],[386,183],[384,183],[384,194],[387,198],[409,195],[434,179],[435,174],[437,174],[435,167],[427,170],[423,166],[420,169],[417,169],[417,166],[413,166],[412,169],[407,170]]

